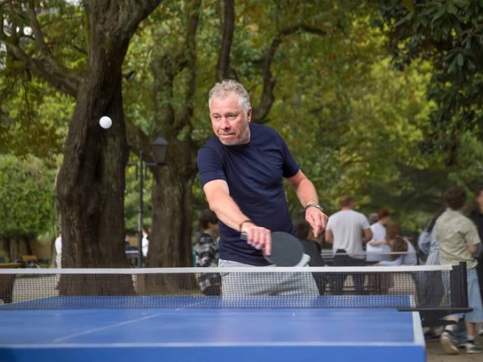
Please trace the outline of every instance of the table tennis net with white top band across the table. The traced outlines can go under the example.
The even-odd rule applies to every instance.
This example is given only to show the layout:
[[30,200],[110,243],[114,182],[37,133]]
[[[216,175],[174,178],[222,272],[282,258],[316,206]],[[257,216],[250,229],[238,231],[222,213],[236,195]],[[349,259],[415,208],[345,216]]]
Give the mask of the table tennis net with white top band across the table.
[[457,307],[455,268],[3,269],[0,308]]

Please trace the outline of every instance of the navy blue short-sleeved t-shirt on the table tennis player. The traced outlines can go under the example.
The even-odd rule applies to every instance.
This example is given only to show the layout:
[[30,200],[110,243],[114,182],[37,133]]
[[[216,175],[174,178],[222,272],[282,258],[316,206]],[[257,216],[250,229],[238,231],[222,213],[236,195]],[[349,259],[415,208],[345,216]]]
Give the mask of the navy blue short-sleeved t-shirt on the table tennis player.
[[[287,145],[274,129],[250,124],[250,142],[226,146],[212,136],[198,150],[197,164],[202,186],[213,180],[225,180],[230,196],[241,212],[255,224],[271,231],[295,235],[283,189],[283,178],[299,171]],[[255,266],[268,262],[260,250],[241,240],[240,233],[218,223],[220,258]]]

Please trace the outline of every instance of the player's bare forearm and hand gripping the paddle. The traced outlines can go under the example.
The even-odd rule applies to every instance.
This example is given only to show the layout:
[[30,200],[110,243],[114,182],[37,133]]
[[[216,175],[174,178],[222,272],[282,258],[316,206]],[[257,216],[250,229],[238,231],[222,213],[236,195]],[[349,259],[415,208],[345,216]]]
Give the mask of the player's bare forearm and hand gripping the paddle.
[[[244,232],[247,235],[248,245],[261,249],[264,254],[272,252],[272,236],[268,229],[257,226],[253,222],[244,222],[250,218],[244,215],[235,200],[230,196],[230,189],[225,180],[212,180],[204,184],[204,194],[207,196],[209,208],[223,224],[230,228]],[[244,223],[243,223],[244,222]],[[241,226],[240,230],[240,225]]]

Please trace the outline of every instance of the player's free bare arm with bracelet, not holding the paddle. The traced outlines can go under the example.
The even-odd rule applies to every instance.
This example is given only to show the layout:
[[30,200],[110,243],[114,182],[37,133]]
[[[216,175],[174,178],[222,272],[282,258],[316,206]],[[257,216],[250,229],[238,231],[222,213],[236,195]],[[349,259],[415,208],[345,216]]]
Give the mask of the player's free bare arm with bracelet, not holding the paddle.
[[325,215],[318,205],[317,191],[314,184],[299,170],[288,182],[295,189],[295,194],[302,206],[305,208],[305,219],[310,224],[314,231],[314,236],[317,237],[327,224],[327,215]]

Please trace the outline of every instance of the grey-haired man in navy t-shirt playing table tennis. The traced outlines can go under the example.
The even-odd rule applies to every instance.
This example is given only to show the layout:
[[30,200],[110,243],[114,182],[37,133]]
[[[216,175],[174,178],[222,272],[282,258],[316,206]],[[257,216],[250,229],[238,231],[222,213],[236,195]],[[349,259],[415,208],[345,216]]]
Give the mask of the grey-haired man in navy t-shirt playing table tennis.
[[[283,178],[295,189],[315,236],[325,228],[327,217],[318,205],[314,185],[300,171],[281,136],[267,126],[251,124],[250,98],[243,85],[235,80],[217,83],[209,93],[209,109],[215,134],[198,151],[197,165],[209,206],[220,220],[218,265],[267,266],[264,256],[271,252],[271,232],[296,233]],[[241,233],[246,233],[246,240]],[[253,280],[229,274],[223,274],[223,295],[245,283],[250,291],[244,289],[244,294],[272,294]],[[313,281],[310,287],[316,293]]]

